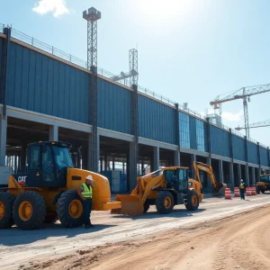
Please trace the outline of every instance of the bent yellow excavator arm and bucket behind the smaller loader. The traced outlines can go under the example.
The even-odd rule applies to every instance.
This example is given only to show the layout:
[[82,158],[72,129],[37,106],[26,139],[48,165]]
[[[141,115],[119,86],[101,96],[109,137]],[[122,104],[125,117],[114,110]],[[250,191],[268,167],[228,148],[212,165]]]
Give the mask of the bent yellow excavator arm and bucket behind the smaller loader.
[[196,180],[199,181],[202,185],[200,172],[199,170],[202,170],[203,172],[206,172],[210,176],[211,184],[212,184],[212,193],[215,195],[224,195],[225,194],[225,188],[227,187],[227,184],[220,183],[216,181],[215,175],[213,174],[211,165],[204,164],[202,162],[193,161],[193,167],[196,175]]

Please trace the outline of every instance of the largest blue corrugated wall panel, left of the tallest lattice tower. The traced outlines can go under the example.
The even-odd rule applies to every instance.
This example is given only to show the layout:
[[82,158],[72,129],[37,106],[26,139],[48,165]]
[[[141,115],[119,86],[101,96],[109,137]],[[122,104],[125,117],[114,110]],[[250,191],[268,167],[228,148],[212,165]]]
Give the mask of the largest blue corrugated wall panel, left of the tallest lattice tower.
[[7,104],[89,123],[87,73],[11,43]]

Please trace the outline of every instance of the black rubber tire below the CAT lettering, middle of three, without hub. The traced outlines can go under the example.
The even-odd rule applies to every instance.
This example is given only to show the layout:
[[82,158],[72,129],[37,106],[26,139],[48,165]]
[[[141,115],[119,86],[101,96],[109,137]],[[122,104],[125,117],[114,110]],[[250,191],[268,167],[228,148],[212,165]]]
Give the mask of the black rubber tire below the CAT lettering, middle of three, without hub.
[[[19,215],[19,206],[21,202],[31,203],[32,215],[30,220],[22,220]],[[18,228],[23,230],[39,229],[45,220],[46,204],[43,197],[36,192],[26,191],[21,193],[14,202],[14,222]]]

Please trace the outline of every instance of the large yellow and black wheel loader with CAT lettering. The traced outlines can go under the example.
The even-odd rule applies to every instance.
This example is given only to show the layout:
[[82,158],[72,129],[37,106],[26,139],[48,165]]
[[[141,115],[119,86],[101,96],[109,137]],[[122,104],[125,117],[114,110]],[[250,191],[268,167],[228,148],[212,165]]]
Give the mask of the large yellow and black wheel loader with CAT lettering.
[[27,173],[9,175],[8,187],[0,189],[0,229],[14,224],[36,229],[55,220],[66,228],[83,225],[83,205],[76,189],[87,175],[94,178],[92,210],[121,208],[121,202],[111,202],[106,177],[73,167],[70,147],[60,141],[29,145]]

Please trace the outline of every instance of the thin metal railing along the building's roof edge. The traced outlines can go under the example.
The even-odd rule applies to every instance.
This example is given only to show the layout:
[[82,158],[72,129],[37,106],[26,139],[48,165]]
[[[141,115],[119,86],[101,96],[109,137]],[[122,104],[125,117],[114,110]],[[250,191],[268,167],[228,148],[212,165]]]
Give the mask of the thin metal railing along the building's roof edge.
[[[4,24],[0,23],[0,32],[4,32]],[[21,32],[21,31],[17,31],[15,30],[14,28],[12,29],[12,38],[16,39],[16,40],[21,40],[23,41],[24,43],[27,43],[37,49],[41,49],[43,51],[46,51],[48,52],[49,54],[53,55],[53,56],[56,56],[58,58],[62,58],[78,67],[83,67],[83,68],[87,68],[87,62],[85,60],[82,60],[80,58],[76,58],[74,56],[72,56],[71,54],[67,54],[66,52],[60,50],[60,49],[57,49],[53,46],[50,46],[49,44],[45,43],[45,42],[42,42],[40,40],[36,40],[34,38],[32,38],[31,36]],[[105,76],[107,78],[112,78],[112,76],[115,76],[112,72],[109,72],[101,67],[97,67],[97,73],[101,76]],[[125,85],[123,84],[121,81],[119,81],[119,83],[121,85]],[[126,85],[126,86],[129,86],[129,85]],[[171,106],[175,106],[175,102],[170,100],[169,98],[161,95],[161,94],[157,94],[153,91],[150,91],[148,90],[146,87],[143,87],[143,86],[138,86],[138,92],[139,93],[142,93],[142,94],[146,94],[154,99],[157,99],[159,100],[160,102],[162,103],[166,103],[166,104],[169,104]],[[191,115],[194,115],[195,117],[197,118],[200,118],[202,119],[202,121],[206,121],[206,118],[205,116],[203,116],[201,113],[199,112],[195,112],[189,108],[185,108],[183,105],[179,104],[179,109],[183,112],[187,112]],[[217,127],[220,127],[224,130],[229,130],[229,127],[227,127],[226,125],[216,125],[215,123],[212,123],[211,124],[217,126]],[[233,134],[235,135],[238,135],[239,137],[241,138],[245,138],[245,135],[238,132],[237,130],[231,130]],[[251,142],[255,142],[257,143],[257,140],[255,139],[247,139]],[[262,144],[261,144],[262,145]]]

